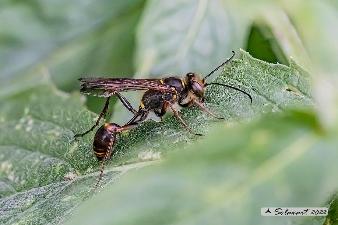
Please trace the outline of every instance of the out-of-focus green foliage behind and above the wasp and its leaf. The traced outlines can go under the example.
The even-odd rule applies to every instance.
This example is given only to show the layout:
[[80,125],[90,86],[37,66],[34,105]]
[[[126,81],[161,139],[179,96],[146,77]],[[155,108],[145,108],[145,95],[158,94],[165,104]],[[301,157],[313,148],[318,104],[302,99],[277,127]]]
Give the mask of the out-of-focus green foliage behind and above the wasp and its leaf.
[[[336,1],[0,4],[4,94],[36,84],[30,81],[42,73],[41,67],[59,89],[73,91],[83,76],[182,76],[190,70],[205,74],[225,53],[239,48],[267,62],[288,64],[293,56],[316,72],[318,86],[331,83],[337,70]],[[103,103],[89,98],[87,105],[99,112]]]

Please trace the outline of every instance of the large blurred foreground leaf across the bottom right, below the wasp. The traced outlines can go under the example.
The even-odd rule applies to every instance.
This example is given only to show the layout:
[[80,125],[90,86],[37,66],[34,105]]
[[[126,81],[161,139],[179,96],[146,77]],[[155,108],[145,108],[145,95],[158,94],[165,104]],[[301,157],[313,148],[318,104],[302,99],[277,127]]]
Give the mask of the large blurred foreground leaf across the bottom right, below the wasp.
[[320,207],[337,187],[337,135],[324,138],[307,117],[214,127],[203,142],[121,178],[67,224],[322,224],[260,215],[267,206]]

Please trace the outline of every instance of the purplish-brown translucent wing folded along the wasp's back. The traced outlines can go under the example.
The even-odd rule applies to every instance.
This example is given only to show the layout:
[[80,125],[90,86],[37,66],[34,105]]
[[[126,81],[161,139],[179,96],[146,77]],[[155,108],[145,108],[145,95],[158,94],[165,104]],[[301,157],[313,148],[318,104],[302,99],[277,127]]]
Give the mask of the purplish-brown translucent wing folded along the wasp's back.
[[132,79],[132,78],[80,78],[84,82],[80,91],[85,94],[109,97],[121,91],[158,90],[171,91],[171,87],[162,84],[160,79]]

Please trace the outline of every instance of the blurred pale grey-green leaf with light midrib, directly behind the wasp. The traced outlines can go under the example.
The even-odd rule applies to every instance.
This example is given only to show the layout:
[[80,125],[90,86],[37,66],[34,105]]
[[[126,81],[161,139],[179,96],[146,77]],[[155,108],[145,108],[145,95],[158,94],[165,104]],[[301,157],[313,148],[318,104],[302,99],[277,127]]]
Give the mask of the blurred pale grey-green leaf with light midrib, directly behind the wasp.
[[[209,74],[245,43],[249,24],[235,13],[221,0],[147,1],[136,36],[135,77]],[[126,96],[140,104],[140,96]],[[128,121],[118,106],[112,117]]]

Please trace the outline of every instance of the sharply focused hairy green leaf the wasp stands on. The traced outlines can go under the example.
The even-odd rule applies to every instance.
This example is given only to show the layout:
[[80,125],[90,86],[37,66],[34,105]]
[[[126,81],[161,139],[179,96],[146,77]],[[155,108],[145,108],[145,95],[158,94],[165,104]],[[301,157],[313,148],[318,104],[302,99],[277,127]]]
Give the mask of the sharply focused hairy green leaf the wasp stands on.
[[[309,73],[295,62],[291,67],[265,63],[243,51],[243,60],[228,64],[217,81],[249,92],[254,102],[250,104],[246,95],[233,89],[208,87],[206,106],[226,120],[211,118],[196,106],[181,110],[196,132],[208,134],[215,126],[224,129],[236,121],[295,105],[314,106]],[[83,106],[79,93],[66,94],[48,82],[38,88],[3,94],[0,104],[1,221],[61,223],[82,199],[91,196],[98,178],[101,163],[93,155],[94,132],[79,141],[72,139],[74,134],[89,129],[97,115]],[[175,117],[164,123],[145,121],[119,135],[101,187],[111,186],[122,174],[149,165],[149,161],[166,158],[173,149],[208,139],[190,134]],[[182,153],[184,157],[186,153]]]

